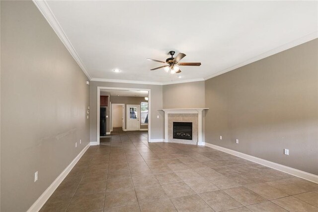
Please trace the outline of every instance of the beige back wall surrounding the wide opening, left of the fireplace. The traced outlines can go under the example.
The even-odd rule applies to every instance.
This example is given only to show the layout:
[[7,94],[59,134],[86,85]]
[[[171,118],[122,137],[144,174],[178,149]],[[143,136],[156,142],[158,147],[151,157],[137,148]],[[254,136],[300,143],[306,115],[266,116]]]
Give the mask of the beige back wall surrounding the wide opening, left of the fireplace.
[[[90,141],[97,141],[97,86],[151,89],[151,139],[163,139],[163,111],[162,108],[162,86],[147,84],[130,84],[116,82],[90,82],[89,104],[90,104]],[[159,118],[157,118],[159,116]]]

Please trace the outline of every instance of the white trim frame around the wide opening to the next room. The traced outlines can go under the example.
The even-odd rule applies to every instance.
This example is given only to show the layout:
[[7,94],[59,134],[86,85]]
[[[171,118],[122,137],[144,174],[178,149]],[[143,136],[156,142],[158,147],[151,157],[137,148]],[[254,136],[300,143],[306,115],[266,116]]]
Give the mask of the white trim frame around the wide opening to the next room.
[[90,142],[90,145],[99,145],[99,113],[100,113],[100,90],[143,90],[148,91],[148,142],[151,141],[151,89],[145,88],[130,88],[130,87],[104,87],[104,86],[97,86],[97,129],[96,129],[96,142]]

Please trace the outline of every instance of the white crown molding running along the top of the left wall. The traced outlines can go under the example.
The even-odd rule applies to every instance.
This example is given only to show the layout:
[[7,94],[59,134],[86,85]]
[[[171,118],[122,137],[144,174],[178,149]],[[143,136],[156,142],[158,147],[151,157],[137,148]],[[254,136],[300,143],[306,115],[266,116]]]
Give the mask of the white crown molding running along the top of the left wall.
[[91,80],[91,76],[87,69],[85,68],[83,62],[80,60],[78,53],[75,51],[72,43],[70,42],[69,38],[63,31],[61,25],[57,21],[55,15],[53,14],[51,8],[47,4],[45,0],[32,0],[33,3],[36,5],[36,7],[40,10],[42,15],[45,17],[47,22],[50,24],[50,26],[53,28],[57,36],[60,38],[64,46],[69,50],[70,54],[74,58],[74,60],[78,63],[80,69],[85,73],[87,78]]

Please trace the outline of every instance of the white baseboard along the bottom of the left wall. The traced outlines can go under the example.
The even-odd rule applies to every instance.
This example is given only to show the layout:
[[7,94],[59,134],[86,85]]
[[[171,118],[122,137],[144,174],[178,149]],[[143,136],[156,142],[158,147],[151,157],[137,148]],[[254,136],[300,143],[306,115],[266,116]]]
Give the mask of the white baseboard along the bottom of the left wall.
[[53,183],[43,192],[43,194],[33,203],[33,205],[27,210],[27,212],[38,212],[46,203],[46,201],[51,197],[53,192],[58,188],[58,186],[62,183],[65,177],[70,173],[76,163],[79,161],[81,156],[85,153],[85,151],[90,146],[88,143],[74,158],[74,160],[64,169],[64,171],[53,181]]

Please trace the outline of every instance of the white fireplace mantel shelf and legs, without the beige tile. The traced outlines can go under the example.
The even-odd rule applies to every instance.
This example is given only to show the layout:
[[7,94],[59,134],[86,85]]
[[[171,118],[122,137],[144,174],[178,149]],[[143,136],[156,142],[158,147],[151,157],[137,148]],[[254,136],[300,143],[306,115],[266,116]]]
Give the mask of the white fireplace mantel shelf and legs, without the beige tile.
[[198,145],[204,145],[202,129],[202,113],[209,108],[173,108],[158,109],[164,111],[164,142],[168,141],[168,114],[198,114]]

